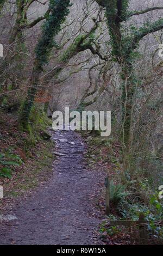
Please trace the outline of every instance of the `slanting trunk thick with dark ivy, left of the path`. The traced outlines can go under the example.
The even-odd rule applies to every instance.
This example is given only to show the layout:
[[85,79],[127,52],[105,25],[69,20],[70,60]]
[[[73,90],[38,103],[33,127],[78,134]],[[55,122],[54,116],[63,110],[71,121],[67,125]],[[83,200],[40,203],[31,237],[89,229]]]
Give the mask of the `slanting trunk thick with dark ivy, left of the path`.
[[70,0],[51,0],[50,2],[51,14],[43,24],[42,35],[35,48],[36,57],[34,68],[30,78],[27,97],[24,100],[20,113],[20,124],[23,129],[28,128],[30,110],[37,92],[39,76],[42,72],[43,65],[48,62],[48,54],[54,46],[53,38],[60,31],[61,24],[65,21],[65,17],[69,13],[69,7]]

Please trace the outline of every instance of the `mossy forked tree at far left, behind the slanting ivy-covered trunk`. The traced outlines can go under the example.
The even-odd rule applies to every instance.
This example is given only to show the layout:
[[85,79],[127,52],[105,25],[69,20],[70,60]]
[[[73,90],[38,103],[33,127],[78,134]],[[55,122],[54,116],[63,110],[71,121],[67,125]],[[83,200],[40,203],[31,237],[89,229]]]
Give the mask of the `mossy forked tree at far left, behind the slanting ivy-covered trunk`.
[[[3,0],[0,0],[0,13],[4,5]],[[18,60],[20,65],[15,65],[15,69],[23,70],[23,61],[22,61],[22,52],[24,50],[24,44],[23,44],[23,31],[24,29],[32,28],[34,27],[37,23],[40,21],[46,19],[46,17],[49,15],[51,8],[49,7],[48,10],[46,11],[45,15],[40,16],[36,18],[34,21],[29,22],[27,19],[27,13],[28,9],[30,8],[30,5],[33,3],[33,1],[30,0],[16,0],[15,5],[16,5],[16,19],[14,26],[10,30],[10,37],[8,41],[8,48],[4,52],[4,59],[1,62],[0,65],[0,84],[1,84],[1,89],[8,89],[7,88],[7,83],[5,83],[5,79],[8,78],[7,74],[7,69],[8,67],[15,61]],[[25,48],[26,49],[26,48]],[[22,51],[22,52],[21,52]],[[21,53],[19,53],[21,52]],[[24,58],[24,55],[23,55]],[[19,84],[16,84],[16,87],[18,87]],[[14,83],[13,83],[13,88]]]

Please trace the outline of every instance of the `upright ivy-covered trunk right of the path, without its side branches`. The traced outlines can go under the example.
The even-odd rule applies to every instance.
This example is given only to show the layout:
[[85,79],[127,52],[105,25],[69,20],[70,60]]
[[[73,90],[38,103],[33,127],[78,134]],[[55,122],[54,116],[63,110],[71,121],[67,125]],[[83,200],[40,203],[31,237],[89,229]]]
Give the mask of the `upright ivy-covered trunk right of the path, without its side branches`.
[[126,48],[126,45],[123,44],[121,32],[121,22],[126,19],[128,3],[127,0],[105,0],[106,18],[112,39],[112,56],[121,65],[122,69],[122,137],[127,148],[129,148],[130,141],[131,109],[135,91],[131,77],[133,75],[132,64],[130,63],[131,48]]

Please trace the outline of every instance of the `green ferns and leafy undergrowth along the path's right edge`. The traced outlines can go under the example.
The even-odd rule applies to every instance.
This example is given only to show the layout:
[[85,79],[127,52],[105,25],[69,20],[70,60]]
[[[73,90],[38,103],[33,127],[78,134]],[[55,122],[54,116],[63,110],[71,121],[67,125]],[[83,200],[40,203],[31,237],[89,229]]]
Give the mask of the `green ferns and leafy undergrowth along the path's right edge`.
[[[163,239],[162,217],[163,199],[159,198],[158,182],[147,166],[141,166],[139,159],[131,163],[133,169],[122,171],[121,146],[114,138],[103,138],[97,135],[85,134],[89,149],[86,154],[90,167],[93,164],[106,166],[106,176],[110,179],[110,215],[109,219],[139,220],[139,214],[145,215],[150,239]],[[150,159],[150,158],[149,158]],[[139,161],[139,164],[136,163]],[[146,162],[148,163],[147,159]],[[105,188],[102,195],[105,197]],[[103,211],[104,211],[103,207]],[[124,234],[122,227],[110,227],[108,221],[102,224],[101,233],[104,236]],[[126,230],[128,236],[128,230]],[[162,240],[161,240],[162,241]],[[128,242],[128,240],[127,240]]]

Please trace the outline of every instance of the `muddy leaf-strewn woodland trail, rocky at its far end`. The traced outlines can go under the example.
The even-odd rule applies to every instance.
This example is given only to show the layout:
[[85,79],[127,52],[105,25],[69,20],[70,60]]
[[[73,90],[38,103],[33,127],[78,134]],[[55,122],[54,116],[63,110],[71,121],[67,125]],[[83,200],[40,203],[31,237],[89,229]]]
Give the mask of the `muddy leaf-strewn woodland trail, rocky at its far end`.
[[96,207],[103,175],[87,170],[86,145],[73,131],[52,132],[53,174],[32,196],[20,200],[0,222],[0,245],[100,245]]

